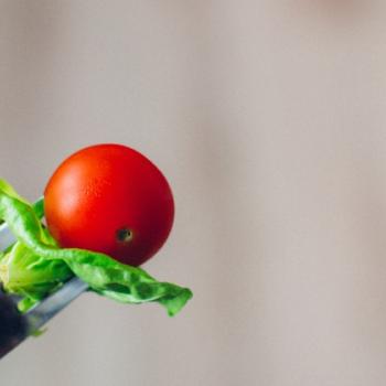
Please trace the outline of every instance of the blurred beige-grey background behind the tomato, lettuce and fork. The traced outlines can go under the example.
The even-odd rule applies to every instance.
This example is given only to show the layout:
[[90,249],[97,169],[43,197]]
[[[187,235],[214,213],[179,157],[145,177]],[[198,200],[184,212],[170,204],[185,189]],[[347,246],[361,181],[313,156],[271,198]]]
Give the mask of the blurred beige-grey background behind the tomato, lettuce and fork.
[[121,142],[170,180],[170,319],[86,294],[2,385],[380,386],[386,4],[0,0],[0,175]]

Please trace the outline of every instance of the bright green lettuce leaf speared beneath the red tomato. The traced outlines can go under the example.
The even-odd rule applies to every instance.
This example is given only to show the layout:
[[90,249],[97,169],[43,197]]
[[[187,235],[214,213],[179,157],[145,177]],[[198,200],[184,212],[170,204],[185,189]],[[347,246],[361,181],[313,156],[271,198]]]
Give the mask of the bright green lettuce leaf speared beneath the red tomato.
[[0,254],[0,281],[4,289],[22,297],[21,311],[57,290],[74,275],[89,289],[124,303],[158,302],[169,315],[176,314],[192,298],[192,291],[160,282],[143,269],[85,249],[60,248],[39,219],[43,201],[29,204],[0,180],[0,219],[18,242]]

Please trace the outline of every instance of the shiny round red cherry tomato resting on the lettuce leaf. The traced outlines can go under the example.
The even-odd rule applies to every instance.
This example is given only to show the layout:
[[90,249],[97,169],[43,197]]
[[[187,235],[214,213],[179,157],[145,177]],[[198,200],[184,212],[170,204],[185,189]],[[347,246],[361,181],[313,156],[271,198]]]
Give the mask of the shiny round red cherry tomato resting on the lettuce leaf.
[[49,230],[64,248],[139,266],[167,240],[174,201],[160,170],[138,151],[97,144],[77,151],[44,191]]

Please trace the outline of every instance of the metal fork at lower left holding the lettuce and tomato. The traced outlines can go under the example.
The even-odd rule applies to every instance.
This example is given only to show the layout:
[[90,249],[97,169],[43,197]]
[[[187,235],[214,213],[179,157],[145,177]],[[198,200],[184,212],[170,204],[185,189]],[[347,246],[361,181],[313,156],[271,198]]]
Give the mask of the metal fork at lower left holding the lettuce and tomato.
[[[1,225],[0,250],[6,249],[14,242],[15,239],[7,227],[7,224]],[[74,278],[23,315],[17,311],[15,307],[11,308],[11,312],[13,312],[14,318],[12,320],[18,321],[15,325],[20,325],[19,330],[21,331],[18,329],[11,329],[12,331],[6,334],[6,336],[2,335],[4,331],[1,331],[3,330],[3,321],[6,320],[6,315],[1,314],[2,308],[0,308],[0,358],[17,347],[32,333],[39,331],[47,321],[62,311],[86,289],[87,285],[85,282],[78,278]],[[8,302],[9,304],[11,300],[10,297],[7,297],[0,290],[0,302],[1,301]],[[9,315],[7,318],[9,318]]]

